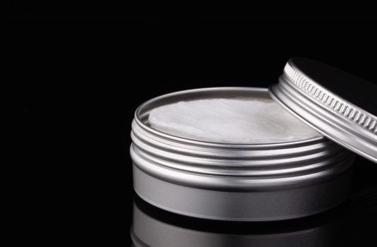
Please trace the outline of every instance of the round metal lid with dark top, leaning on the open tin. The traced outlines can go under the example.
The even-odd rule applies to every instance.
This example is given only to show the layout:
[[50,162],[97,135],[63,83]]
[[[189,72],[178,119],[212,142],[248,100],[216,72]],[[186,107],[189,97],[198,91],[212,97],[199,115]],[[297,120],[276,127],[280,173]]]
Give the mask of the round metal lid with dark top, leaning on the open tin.
[[269,92],[330,140],[377,162],[377,85],[316,61],[292,58]]

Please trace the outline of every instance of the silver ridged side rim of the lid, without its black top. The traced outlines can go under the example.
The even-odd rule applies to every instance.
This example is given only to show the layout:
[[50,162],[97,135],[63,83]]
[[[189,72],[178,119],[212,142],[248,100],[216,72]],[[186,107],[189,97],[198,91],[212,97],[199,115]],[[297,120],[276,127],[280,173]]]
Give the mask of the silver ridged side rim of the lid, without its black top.
[[[335,70],[334,75],[337,72]],[[317,73],[321,73],[321,69]],[[343,147],[377,162],[377,116],[307,76],[306,71],[301,71],[299,62],[289,60],[279,83],[271,85],[269,91],[276,102],[304,123]],[[369,109],[372,108],[369,106]]]

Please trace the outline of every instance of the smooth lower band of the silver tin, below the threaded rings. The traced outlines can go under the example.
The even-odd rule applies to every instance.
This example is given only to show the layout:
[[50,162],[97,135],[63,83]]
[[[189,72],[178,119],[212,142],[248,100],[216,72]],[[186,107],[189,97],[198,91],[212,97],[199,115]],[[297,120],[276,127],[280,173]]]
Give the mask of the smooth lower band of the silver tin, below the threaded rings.
[[210,191],[155,179],[133,165],[133,186],[148,203],[180,215],[231,221],[275,221],[314,215],[345,201],[351,171],[336,179],[288,190]]

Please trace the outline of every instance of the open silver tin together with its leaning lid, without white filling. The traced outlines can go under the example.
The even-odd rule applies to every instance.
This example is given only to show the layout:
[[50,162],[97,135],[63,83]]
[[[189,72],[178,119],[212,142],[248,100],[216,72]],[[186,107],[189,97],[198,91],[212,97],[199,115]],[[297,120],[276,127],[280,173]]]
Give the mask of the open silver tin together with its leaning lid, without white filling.
[[[133,186],[152,205],[206,219],[273,221],[323,212],[347,199],[354,152],[377,161],[376,93],[373,83],[291,59],[269,91],[204,88],[156,97],[138,107],[132,123]],[[210,143],[148,125],[149,112],[164,104],[271,97],[323,136],[286,143]]]

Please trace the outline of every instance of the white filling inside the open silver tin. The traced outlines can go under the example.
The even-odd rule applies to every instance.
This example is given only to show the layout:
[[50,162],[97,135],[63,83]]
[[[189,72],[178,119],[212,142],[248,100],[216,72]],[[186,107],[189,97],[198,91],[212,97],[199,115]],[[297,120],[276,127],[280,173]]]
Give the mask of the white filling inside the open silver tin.
[[273,100],[208,99],[152,109],[157,131],[215,143],[282,143],[321,136]]

